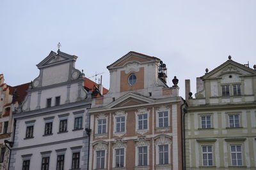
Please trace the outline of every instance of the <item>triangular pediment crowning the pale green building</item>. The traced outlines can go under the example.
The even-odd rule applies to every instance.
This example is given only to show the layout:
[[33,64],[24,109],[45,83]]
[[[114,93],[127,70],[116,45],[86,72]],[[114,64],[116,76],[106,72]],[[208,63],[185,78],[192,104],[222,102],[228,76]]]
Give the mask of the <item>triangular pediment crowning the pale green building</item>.
[[206,73],[202,78],[205,79],[212,79],[212,78],[220,78],[224,74],[236,73],[240,74],[241,76],[248,76],[248,75],[255,75],[256,71],[251,69],[250,67],[246,67],[243,64],[239,64],[234,60],[227,60],[220,66],[216,67],[209,73]]

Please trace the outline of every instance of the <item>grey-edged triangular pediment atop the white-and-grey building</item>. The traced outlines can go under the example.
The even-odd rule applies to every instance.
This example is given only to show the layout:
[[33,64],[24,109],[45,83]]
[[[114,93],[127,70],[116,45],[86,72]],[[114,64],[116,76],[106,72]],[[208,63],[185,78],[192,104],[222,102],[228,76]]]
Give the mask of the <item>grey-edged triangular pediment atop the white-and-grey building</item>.
[[63,53],[60,50],[58,50],[58,53],[51,51],[49,53],[49,55],[47,57],[45,57],[45,59],[42,60],[36,66],[38,68],[47,67],[47,66],[52,66],[52,65],[55,65],[55,64],[60,64],[60,63],[63,63],[63,62],[69,62],[71,60],[76,60],[76,59],[77,59],[76,56],[69,55],[67,53]]

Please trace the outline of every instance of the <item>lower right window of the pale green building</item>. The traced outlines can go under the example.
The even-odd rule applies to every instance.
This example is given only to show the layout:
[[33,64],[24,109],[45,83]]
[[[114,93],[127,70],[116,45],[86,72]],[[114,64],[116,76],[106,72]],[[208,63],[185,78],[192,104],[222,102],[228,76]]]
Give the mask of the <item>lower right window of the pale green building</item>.
[[232,166],[242,166],[242,150],[241,145],[231,145],[231,164]]

